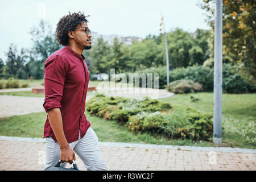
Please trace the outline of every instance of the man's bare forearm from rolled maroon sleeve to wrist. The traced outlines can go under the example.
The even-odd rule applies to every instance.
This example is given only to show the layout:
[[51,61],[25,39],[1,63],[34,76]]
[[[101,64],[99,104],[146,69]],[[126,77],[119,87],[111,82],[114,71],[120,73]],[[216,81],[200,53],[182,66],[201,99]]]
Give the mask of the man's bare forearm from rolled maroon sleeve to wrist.
[[49,123],[51,124],[53,133],[55,134],[55,137],[57,139],[57,142],[59,143],[60,148],[69,147],[69,144],[67,142],[67,139],[65,138],[65,134],[63,131],[63,123],[60,108],[50,109],[48,110],[47,114]]

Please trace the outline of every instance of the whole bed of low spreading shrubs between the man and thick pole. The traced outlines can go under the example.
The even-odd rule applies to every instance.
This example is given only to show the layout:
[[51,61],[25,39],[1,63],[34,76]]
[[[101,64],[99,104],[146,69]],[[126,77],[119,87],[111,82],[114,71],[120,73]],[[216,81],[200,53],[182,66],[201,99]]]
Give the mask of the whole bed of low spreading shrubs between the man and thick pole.
[[212,115],[187,106],[172,106],[148,98],[136,100],[97,94],[86,102],[86,109],[92,115],[114,119],[134,132],[194,140],[212,137]]

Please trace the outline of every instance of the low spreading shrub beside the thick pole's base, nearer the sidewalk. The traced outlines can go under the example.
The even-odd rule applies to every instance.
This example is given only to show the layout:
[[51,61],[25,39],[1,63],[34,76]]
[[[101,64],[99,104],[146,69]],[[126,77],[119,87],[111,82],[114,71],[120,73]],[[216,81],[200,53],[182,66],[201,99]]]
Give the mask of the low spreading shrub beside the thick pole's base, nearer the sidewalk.
[[133,131],[148,131],[168,138],[209,140],[213,133],[213,117],[189,107],[178,107],[167,113],[140,113],[131,117],[127,127]]

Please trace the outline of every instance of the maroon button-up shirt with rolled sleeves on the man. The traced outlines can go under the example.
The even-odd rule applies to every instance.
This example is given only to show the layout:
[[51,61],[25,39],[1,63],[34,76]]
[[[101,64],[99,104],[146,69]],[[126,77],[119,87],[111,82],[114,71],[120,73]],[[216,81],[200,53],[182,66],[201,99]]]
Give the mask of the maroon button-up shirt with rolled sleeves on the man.
[[[84,137],[90,122],[86,119],[85,100],[89,84],[89,71],[84,55],[79,55],[68,46],[54,52],[44,64],[44,109],[59,107],[63,130],[68,143]],[[44,138],[52,137],[57,142],[46,118]]]

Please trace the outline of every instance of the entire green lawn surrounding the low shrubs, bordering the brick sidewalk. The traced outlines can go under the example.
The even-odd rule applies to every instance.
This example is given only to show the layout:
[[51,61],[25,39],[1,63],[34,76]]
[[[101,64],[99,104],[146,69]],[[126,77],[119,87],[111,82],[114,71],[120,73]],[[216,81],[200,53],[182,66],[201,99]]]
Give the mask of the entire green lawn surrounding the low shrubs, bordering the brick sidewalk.
[[[190,96],[200,100],[191,102]],[[213,113],[213,93],[179,94],[160,99],[173,105],[187,105],[196,109]],[[256,94],[223,94],[222,95],[222,147],[256,148]],[[128,142],[149,144],[171,144],[187,146],[215,146],[209,142],[193,142],[190,139],[167,139],[150,134],[135,134],[126,126],[116,121],[108,121],[91,116],[86,117],[92,124],[100,141]],[[33,113],[13,117],[0,118],[0,135],[16,137],[42,138],[46,113]]]

